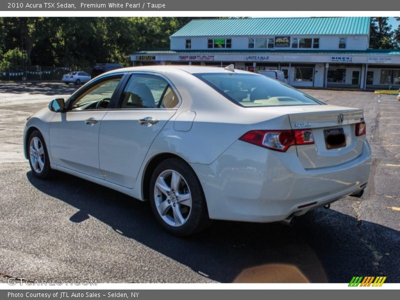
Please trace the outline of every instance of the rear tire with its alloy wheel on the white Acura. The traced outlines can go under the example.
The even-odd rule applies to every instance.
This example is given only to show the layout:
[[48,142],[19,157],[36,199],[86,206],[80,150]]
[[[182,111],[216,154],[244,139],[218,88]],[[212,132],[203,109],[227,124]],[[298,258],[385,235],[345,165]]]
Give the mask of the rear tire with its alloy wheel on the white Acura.
[[[177,185],[172,183],[173,176],[181,177],[175,181]],[[159,188],[161,182],[166,185]],[[158,164],[151,175],[149,195],[155,218],[173,235],[189,236],[211,223],[201,184],[181,159],[168,158]]]

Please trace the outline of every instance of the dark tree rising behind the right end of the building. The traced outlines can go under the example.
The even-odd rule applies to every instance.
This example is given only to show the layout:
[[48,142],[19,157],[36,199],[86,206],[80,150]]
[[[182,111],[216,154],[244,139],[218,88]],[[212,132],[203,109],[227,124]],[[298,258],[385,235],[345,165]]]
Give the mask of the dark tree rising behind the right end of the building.
[[371,17],[369,26],[369,47],[375,49],[393,48],[393,35],[391,25],[387,23],[388,17]]

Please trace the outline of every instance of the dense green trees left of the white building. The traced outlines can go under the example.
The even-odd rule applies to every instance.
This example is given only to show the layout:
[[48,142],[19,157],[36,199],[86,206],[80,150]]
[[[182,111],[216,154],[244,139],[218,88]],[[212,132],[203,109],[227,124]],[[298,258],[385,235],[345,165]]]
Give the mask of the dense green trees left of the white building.
[[191,17],[0,17],[0,54],[23,48],[27,65],[129,65],[129,54],[168,48]]

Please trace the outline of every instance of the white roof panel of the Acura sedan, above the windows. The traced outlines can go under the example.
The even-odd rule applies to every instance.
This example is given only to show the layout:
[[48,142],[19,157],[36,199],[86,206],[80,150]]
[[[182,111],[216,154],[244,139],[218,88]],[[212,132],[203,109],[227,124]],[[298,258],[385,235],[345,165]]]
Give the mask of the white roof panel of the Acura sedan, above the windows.
[[[205,65],[145,65],[145,66],[130,66],[119,68],[115,70],[108,71],[107,74],[111,73],[119,73],[119,72],[134,72],[134,71],[143,71],[143,72],[155,72],[155,73],[163,73],[163,72],[187,72],[190,74],[196,73],[232,73],[232,71],[217,66],[205,66]],[[248,73],[248,74],[256,74],[253,72],[243,71],[239,69],[234,69],[235,73]]]

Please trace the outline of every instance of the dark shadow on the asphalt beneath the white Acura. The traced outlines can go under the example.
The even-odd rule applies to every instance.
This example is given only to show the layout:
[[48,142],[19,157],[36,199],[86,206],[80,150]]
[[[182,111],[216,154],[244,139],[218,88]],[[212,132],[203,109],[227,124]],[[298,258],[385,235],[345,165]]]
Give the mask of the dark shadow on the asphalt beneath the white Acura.
[[[299,274],[293,278],[303,276],[309,282],[349,282],[354,275],[378,275],[379,265],[371,248],[386,251],[384,247],[388,246],[391,257],[400,254],[398,244],[389,240],[393,236],[398,238],[398,231],[370,222],[360,225],[354,217],[332,209],[310,212],[298,218],[293,227],[278,223],[214,221],[207,230],[184,239],[165,233],[147,202],[64,173],[57,173],[50,180],[37,179],[31,171],[26,176],[38,190],[79,209],[68,216],[71,222],[93,216],[118,230],[116,234],[139,241],[220,282],[232,282],[239,274],[242,278],[243,271],[254,275],[248,270],[251,267],[266,266],[263,270],[267,270],[268,266],[277,264],[297,269]],[[79,193],[70,192],[77,189]],[[375,233],[368,241],[370,244],[359,236],[363,228],[367,229],[366,235]],[[384,258],[380,263],[384,263]],[[392,274],[384,274],[387,282],[400,281],[395,270],[394,266]],[[259,281],[268,281],[265,278],[268,274]],[[254,280],[257,281],[251,277]]]

